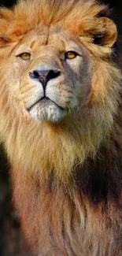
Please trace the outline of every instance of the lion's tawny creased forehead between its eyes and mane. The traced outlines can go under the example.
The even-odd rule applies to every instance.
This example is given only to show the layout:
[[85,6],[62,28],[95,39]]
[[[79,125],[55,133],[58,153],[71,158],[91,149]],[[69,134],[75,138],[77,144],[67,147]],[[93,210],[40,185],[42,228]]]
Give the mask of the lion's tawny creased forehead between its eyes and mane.
[[31,49],[32,51],[39,50],[58,50],[59,52],[65,52],[66,50],[79,50],[81,46],[76,41],[74,36],[70,32],[47,32],[42,30],[40,32],[29,32],[24,35],[23,39],[18,43],[16,51],[24,51]]

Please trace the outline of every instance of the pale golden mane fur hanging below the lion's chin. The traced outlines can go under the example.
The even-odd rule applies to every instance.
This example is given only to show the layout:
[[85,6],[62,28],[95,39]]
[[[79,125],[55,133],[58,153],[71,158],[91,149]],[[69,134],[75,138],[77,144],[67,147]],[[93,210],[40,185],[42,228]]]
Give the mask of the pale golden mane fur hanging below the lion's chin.
[[83,117],[82,121],[76,121],[77,124],[70,120],[61,125],[43,123],[35,126],[33,121],[22,127],[21,122],[13,124],[14,129],[6,141],[10,160],[20,169],[40,173],[44,179],[54,172],[67,181],[84,159],[95,156],[105,134],[109,133],[108,123],[105,127],[105,122],[96,122],[91,132],[91,122],[87,124],[84,120]]

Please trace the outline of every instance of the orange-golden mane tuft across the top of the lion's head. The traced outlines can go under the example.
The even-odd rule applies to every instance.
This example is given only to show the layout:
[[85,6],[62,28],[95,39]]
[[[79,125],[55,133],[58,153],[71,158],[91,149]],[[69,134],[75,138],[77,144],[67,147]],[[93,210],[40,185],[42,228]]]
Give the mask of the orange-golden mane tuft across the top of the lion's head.
[[[109,32],[109,26],[105,19],[97,19],[97,17],[106,9],[105,5],[99,5],[94,0],[32,0],[20,1],[13,9],[0,9],[1,17],[1,39],[7,41],[12,39],[20,39],[28,31],[37,30],[40,25],[45,27],[50,25],[62,26],[65,25],[71,32],[78,36],[96,35],[99,32],[104,33],[107,29],[108,39],[114,41],[116,39],[116,26],[112,25],[114,32]],[[27,12],[28,10],[28,12]],[[75,23],[73,20],[77,20]],[[109,20],[110,22],[110,20]],[[105,24],[104,24],[105,23]],[[107,27],[108,26],[108,27]],[[108,40],[108,43],[109,43]],[[103,50],[103,49],[102,49]],[[104,54],[109,49],[104,49]]]

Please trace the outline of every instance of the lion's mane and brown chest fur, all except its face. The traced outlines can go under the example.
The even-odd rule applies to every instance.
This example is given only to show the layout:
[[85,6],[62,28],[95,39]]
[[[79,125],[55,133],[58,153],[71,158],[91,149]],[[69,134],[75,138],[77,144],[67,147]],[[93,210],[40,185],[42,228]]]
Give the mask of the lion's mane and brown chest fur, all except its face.
[[[91,0],[0,9],[0,135],[25,236],[41,256],[122,254],[121,72],[112,58],[116,25],[105,9]],[[31,119],[10,71],[13,51],[42,28],[70,32],[92,63],[85,108],[59,124]]]

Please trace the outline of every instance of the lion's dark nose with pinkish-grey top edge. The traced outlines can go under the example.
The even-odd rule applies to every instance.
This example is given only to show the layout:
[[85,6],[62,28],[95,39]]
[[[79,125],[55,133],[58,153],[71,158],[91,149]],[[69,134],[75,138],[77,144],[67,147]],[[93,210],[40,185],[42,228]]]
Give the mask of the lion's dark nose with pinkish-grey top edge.
[[57,78],[57,76],[60,76],[61,72],[57,69],[50,69],[50,70],[34,70],[33,72],[29,72],[29,76],[31,79],[39,80],[40,83],[42,83],[43,87],[46,87],[46,83],[49,80],[52,80],[54,78]]

